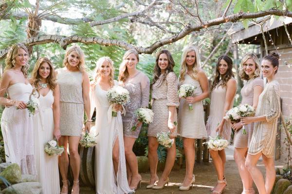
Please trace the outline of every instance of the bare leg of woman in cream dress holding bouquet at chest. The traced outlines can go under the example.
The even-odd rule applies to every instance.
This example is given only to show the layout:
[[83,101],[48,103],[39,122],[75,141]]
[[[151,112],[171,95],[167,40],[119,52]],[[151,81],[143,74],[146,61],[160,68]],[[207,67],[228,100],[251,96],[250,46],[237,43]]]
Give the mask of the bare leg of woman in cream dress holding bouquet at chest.
[[195,165],[195,139],[183,138],[183,149],[185,153],[185,177],[183,186],[190,185],[193,178]]

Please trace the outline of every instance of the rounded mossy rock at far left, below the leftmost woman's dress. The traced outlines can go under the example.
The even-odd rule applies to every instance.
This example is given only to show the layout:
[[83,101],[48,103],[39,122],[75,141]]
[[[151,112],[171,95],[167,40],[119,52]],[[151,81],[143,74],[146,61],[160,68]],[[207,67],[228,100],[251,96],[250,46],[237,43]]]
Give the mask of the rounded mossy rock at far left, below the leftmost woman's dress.
[[[0,173],[0,176],[8,180],[11,184],[19,183],[21,180],[21,170],[17,163],[10,164]],[[0,181],[2,183],[2,181]]]

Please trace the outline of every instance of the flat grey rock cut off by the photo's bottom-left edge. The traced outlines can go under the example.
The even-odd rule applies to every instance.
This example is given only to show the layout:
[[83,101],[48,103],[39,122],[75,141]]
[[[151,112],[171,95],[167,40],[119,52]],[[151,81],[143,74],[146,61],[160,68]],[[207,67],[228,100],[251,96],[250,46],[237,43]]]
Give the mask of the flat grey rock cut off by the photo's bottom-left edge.
[[42,194],[42,189],[39,182],[21,182],[4,189],[2,194]]

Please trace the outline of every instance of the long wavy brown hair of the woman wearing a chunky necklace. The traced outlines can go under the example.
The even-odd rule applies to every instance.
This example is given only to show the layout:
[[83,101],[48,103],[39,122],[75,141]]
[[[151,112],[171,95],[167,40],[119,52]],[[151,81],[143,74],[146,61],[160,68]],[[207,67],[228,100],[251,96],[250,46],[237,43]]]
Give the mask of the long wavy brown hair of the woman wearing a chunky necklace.
[[39,81],[41,81],[41,76],[39,75],[39,68],[42,64],[44,63],[47,63],[49,64],[50,66],[50,74],[49,76],[47,77],[47,82],[48,84],[50,85],[50,88],[54,91],[55,90],[55,87],[57,85],[57,82],[56,82],[56,78],[55,78],[55,69],[54,69],[54,66],[52,65],[52,62],[50,61],[50,59],[48,59],[47,57],[40,57],[37,59],[37,63],[33,69],[33,72],[32,72],[32,85],[34,86],[34,91],[37,91],[38,94],[39,94]]

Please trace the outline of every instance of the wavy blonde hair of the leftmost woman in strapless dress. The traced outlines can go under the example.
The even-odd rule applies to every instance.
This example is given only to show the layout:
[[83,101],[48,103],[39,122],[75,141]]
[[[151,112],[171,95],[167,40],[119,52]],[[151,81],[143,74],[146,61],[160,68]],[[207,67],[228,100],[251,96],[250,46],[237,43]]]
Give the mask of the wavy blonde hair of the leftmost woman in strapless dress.
[[[17,43],[15,45],[13,45],[9,49],[9,51],[7,53],[7,56],[6,56],[6,59],[5,59],[5,68],[4,68],[4,71],[15,67],[15,58],[18,55],[18,50],[19,49],[25,50],[25,52],[28,55],[28,50],[27,50],[27,48],[25,47],[24,44]],[[28,69],[29,69],[29,63],[28,62],[24,66],[21,66],[21,71],[22,71],[22,73],[24,75],[24,78],[27,78],[27,71],[28,71]]]

